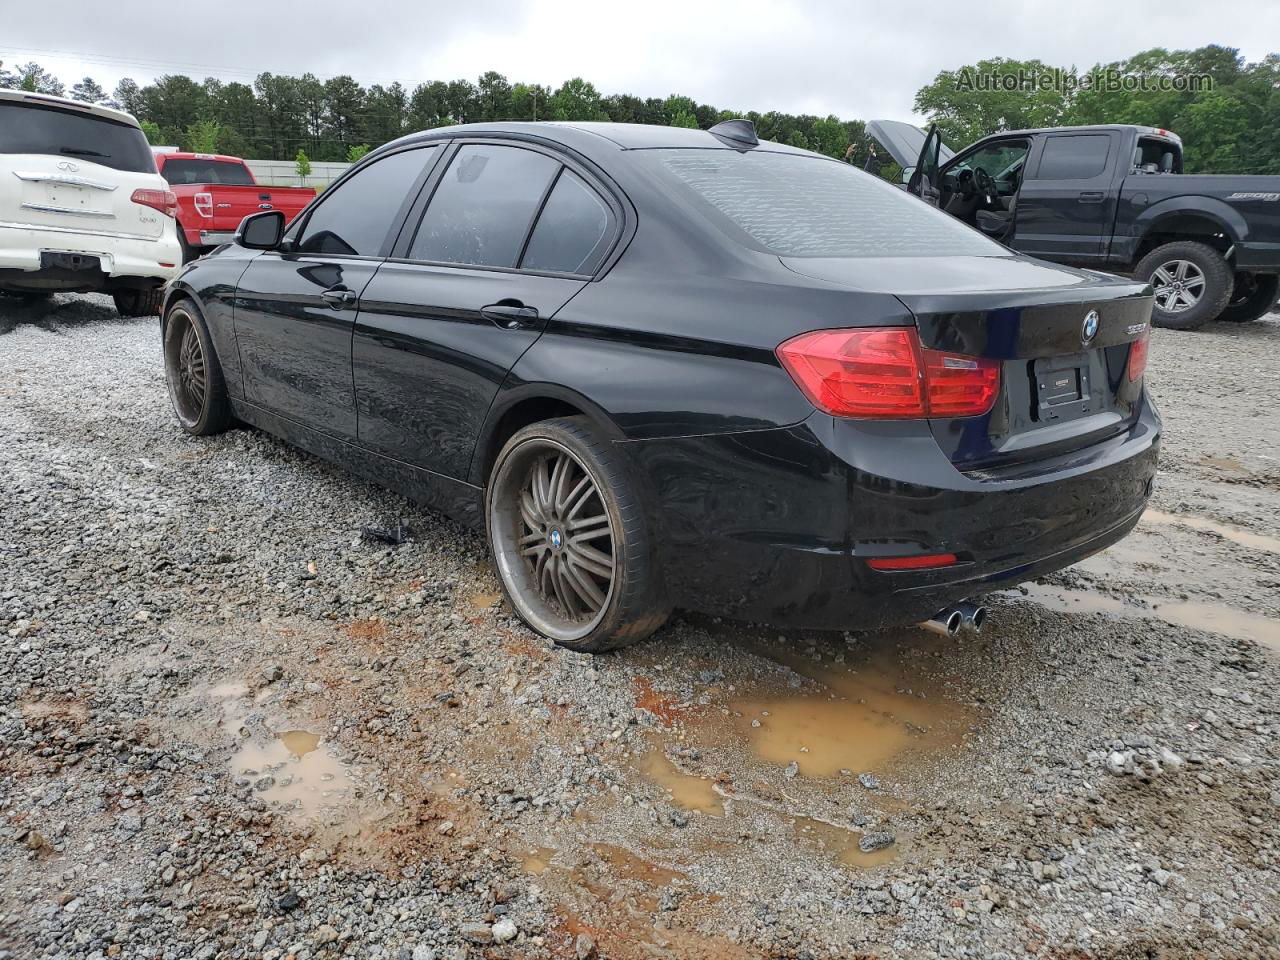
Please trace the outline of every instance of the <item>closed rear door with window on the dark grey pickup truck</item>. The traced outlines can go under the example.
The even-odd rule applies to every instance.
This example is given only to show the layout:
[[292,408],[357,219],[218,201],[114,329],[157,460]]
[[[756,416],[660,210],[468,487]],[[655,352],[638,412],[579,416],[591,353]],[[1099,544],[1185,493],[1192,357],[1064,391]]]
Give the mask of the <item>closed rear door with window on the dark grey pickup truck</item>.
[[[1093,262],[1115,223],[1115,133],[1050,133],[1033,150],[1018,193],[1014,250],[1047,260]],[[1038,156],[1037,156],[1038,154]]]

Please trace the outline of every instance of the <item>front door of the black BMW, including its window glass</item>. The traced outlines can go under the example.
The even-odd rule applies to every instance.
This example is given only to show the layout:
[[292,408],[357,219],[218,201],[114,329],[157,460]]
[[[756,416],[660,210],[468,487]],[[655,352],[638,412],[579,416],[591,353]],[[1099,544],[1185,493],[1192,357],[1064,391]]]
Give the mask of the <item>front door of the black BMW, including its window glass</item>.
[[236,291],[244,397],[330,436],[356,438],[351,332],[360,297],[439,146],[388,154],[332,187]]

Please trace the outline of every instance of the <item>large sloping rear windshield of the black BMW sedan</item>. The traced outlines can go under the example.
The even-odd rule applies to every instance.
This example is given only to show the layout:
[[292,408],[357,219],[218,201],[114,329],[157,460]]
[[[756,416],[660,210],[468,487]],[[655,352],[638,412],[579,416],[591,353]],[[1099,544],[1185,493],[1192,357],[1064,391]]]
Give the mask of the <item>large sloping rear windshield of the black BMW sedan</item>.
[[849,164],[762,150],[644,152],[713,223],[777,256],[1009,256],[995,241]]

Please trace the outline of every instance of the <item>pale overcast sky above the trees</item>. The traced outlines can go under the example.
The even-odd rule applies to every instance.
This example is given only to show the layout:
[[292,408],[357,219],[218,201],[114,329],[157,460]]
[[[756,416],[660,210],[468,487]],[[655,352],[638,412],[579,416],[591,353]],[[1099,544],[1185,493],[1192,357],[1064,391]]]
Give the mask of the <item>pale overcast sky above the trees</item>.
[[[1280,0],[59,0],[5,3],[0,60],[38,60],[70,86],[88,74],[252,81],[262,70],[360,82],[475,79],[493,69],[550,87],[740,110],[910,119],[941,69],[986,56],[1082,69],[1153,46],[1280,50]],[[296,12],[294,12],[296,10]],[[189,12],[184,17],[184,12]],[[1270,46],[1268,46],[1270,45]],[[56,52],[54,52],[56,51]]]

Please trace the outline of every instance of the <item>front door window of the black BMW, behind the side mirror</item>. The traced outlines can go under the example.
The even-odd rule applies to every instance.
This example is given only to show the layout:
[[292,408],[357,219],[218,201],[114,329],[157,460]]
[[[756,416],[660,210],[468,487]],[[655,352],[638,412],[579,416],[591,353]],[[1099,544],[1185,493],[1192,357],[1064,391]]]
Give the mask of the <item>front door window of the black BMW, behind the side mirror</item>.
[[302,228],[303,253],[383,256],[396,215],[438,147],[375,160],[330,188]]

